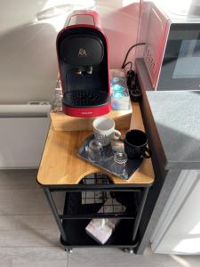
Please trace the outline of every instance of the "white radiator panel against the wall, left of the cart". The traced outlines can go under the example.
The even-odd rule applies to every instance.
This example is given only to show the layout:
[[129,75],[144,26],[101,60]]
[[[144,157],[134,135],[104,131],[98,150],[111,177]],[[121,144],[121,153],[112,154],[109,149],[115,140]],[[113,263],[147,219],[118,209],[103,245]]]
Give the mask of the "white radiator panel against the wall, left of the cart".
[[36,168],[50,125],[50,105],[0,105],[0,169]]

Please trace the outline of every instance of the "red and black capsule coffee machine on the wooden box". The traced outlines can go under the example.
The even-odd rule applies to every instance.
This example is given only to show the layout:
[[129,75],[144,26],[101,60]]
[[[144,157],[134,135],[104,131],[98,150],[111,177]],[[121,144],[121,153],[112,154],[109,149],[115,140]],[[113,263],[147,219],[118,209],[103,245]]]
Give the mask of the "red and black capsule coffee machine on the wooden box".
[[111,110],[108,42],[94,11],[72,12],[57,36],[62,109],[73,117],[97,117]]

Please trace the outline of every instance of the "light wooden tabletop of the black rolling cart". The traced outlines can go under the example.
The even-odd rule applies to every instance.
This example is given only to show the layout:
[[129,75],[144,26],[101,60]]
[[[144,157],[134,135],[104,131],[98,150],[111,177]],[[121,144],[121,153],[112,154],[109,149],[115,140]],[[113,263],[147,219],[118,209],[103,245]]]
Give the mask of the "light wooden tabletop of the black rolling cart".
[[[138,103],[132,103],[130,129],[144,131]],[[76,156],[84,139],[91,131],[56,132],[50,127],[44,146],[43,157],[37,174],[37,182],[42,185],[77,184],[87,174],[101,173],[116,184],[150,185],[154,182],[154,170],[150,158],[145,158],[140,168],[129,180],[123,180]],[[124,133],[122,133],[124,134]]]

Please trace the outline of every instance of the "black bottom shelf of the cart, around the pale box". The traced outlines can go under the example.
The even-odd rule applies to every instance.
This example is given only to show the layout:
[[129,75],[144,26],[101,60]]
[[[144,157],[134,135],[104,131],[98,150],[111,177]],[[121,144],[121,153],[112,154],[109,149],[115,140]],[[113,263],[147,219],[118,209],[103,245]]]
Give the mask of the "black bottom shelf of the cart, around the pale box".
[[66,247],[136,247],[137,242],[132,243],[133,221],[123,219],[116,226],[105,245],[101,245],[93,240],[86,232],[85,227],[91,220],[65,220],[63,228],[68,237],[68,243],[60,239],[61,244]]

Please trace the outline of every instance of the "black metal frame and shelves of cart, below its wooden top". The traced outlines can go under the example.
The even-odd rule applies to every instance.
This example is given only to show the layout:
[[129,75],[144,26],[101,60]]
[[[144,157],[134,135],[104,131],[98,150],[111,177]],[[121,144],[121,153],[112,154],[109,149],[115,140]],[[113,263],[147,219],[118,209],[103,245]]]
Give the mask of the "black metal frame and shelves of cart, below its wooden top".
[[[52,198],[54,191],[66,192],[63,214],[58,213]],[[137,233],[148,187],[119,186],[113,184],[104,174],[94,174],[84,177],[76,186],[44,186],[44,193],[60,229],[61,244],[67,247],[69,252],[73,247],[122,247],[132,253],[137,246]],[[103,210],[98,213],[108,198],[111,198],[111,212]],[[123,212],[116,213],[118,209],[113,199],[125,206]],[[96,242],[85,231],[85,227],[93,218],[120,219],[105,245]]]

